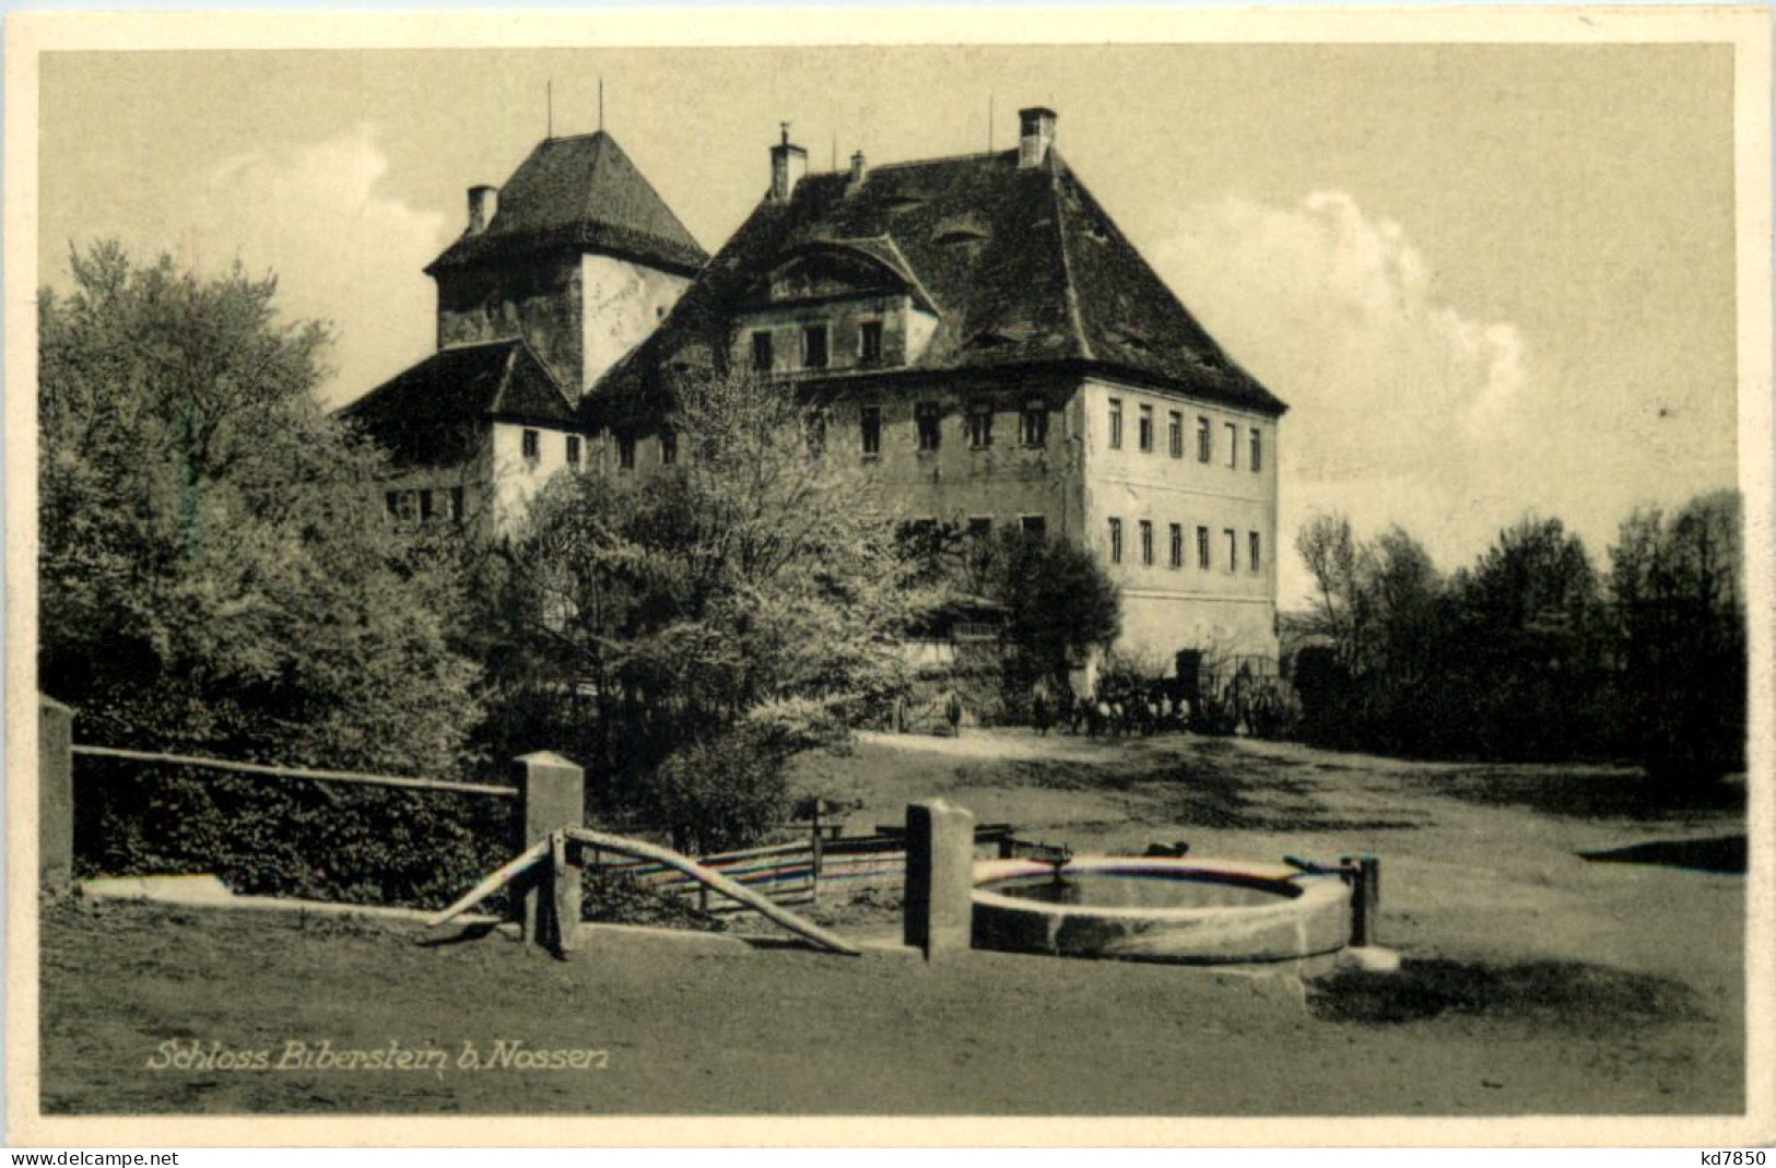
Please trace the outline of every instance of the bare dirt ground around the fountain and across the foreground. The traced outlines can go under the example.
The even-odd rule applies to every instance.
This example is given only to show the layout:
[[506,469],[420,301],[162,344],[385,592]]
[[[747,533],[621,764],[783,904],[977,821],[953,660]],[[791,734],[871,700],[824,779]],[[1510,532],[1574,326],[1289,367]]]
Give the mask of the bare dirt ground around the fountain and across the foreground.
[[[44,914],[52,1113],[1735,1113],[1742,786],[1284,744],[872,737],[797,779],[899,822],[943,795],[1078,850],[1382,857],[1392,976],[607,935],[559,962],[394,925],[73,904]],[[1586,854],[1591,859],[1586,859]],[[828,909],[861,941],[892,905]],[[421,1070],[275,1063],[414,1051]],[[586,1067],[471,1069],[496,1044]],[[247,1067],[162,1065],[190,1051]],[[250,1067],[266,1053],[266,1069]],[[435,1054],[433,1054],[435,1053]],[[179,1056],[174,1060],[172,1056]],[[442,1058],[448,1067],[428,1060]],[[561,1054],[563,1061],[572,1056]],[[392,1061],[384,1054],[385,1061]],[[297,1060],[300,1061],[300,1060]],[[547,1061],[547,1058],[543,1060]]]

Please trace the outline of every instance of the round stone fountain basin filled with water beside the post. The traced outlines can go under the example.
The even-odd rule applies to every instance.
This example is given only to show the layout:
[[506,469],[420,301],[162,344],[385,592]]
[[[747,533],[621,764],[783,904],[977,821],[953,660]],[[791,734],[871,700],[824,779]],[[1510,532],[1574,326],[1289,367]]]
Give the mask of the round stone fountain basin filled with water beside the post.
[[1288,864],[1078,856],[975,863],[984,950],[1181,964],[1302,960],[1350,939],[1350,886]]

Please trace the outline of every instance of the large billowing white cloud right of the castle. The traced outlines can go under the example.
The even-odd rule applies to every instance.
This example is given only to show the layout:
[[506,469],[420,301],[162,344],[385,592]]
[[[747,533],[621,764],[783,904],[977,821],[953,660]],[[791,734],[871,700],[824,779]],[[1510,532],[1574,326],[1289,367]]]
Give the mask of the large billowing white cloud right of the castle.
[[[1444,302],[1398,222],[1344,192],[1192,208],[1154,266],[1291,410],[1282,543],[1314,509],[1399,522],[1444,568],[1536,499],[1540,399],[1524,332]],[[1305,595],[1284,556],[1280,600]]]

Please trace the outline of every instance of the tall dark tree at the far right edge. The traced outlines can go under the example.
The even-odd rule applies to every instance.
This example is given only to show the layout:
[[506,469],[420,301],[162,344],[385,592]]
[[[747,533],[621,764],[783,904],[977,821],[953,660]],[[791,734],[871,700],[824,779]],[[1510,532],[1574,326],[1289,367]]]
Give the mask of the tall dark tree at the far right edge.
[[1637,511],[1609,552],[1632,746],[1661,779],[1742,770],[1746,607],[1737,492]]

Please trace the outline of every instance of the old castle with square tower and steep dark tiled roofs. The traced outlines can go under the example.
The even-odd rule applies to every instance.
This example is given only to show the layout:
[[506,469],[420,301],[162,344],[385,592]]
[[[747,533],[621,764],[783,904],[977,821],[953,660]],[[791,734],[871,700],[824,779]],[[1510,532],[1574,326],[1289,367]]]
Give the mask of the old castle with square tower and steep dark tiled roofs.
[[346,406],[396,451],[391,509],[458,474],[456,513],[492,499],[497,527],[559,467],[646,474],[677,458],[675,371],[742,367],[819,401],[822,456],[908,522],[1098,552],[1119,650],[1273,662],[1288,406],[1117,229],[1055,124],[1027,108],[1012,151],[828,174],[785,131],[707,261],[607,135],[543,142],[497,195],[471,190],[428,268],[439,353]]

